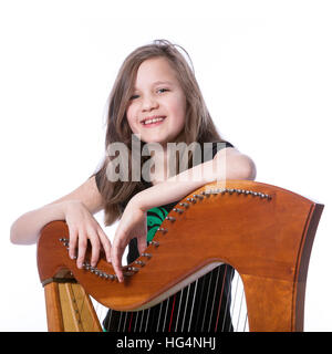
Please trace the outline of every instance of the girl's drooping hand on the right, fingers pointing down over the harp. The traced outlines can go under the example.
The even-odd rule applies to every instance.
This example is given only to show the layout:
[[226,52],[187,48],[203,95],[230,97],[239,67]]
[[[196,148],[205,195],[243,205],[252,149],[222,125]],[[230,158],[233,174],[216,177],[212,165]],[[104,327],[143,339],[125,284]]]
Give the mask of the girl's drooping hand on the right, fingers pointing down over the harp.
[[114,235],[111,259],[117,280],[124,280],[122,272],[122,257],[126,246],[133,238],[137,238],[139,254],[146,249],[146,211],[143,211],[133,199],[127,204]]

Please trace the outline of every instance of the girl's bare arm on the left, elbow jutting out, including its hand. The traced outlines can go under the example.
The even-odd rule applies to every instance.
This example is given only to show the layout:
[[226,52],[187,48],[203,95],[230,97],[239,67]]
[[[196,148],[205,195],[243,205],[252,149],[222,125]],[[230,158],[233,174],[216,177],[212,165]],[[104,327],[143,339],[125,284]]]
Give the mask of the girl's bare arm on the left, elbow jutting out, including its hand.
[[111,250],[106,235],[92,216],[102,208],[103,198],[93,176],[69,195],[19,217],[11,226],[10,240],[17,244],[33,244],[46,223],[65,220],[70,230],[70,256],[75,256],[75,248],[79,243],[77,266],[81,266],[87,239],[90,239],[93,246],[92,262],[94,263],[98,258],[100,241],[106,254]]

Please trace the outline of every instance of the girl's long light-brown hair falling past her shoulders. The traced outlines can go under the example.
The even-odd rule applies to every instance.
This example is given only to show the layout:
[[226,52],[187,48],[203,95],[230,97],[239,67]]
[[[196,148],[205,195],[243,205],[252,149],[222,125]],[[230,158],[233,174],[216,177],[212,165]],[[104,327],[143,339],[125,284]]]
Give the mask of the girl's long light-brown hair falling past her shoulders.
[[[125,59],[114,82],[107,101],[108,108],[105,150],[107,152],[107,147],[112,143],[124,143],[129,152],[129,168],[132,166],[132,131],[127,122],[126,108],[135,84],[137,70],[139,65],[147,59],[167,59],[170,67],[173,67],[173,70],[175,70],[177,73],[177,79],[183,92],[186,95],[187,110],[185,127],[177,140],[184,142],[187,145],[194,142],[199,144],[216,140],[225,142],[220,137],[206,107],[200,88],[195,77],[194,69],[191,70],[186,59],[176,46],[180,48],[189,58],[188,53],[180,45],[173,44],[167,40],[155,40],[152,44],[137,48]],[[142,148],[144,144],[142,145]],[[146,162],[146,159],[147,158],[142,156],[142,165]],[[142,180],[110,181],[106,176],[106,169],[111,160],[112,157],[105,154],[102,167],[96,173],[97,185],[104,199],[104,222],[106,226],[112,225],[121,217],[124,206],[136,192],[146,188],[146,184]],[[189,157],[189,167],[190,163],[193,162]]]

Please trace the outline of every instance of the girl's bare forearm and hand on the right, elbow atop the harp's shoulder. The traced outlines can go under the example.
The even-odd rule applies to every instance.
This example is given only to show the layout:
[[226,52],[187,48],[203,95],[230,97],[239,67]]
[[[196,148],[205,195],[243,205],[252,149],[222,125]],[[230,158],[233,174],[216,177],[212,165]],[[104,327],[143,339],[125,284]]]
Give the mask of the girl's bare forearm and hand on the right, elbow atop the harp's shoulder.
[[[203,174],[200,174],[201,170],[204,170]],[[126,206],[114,236],[112,263],[118,280],[124,279],[121,260],[129,240],[137,238],[139,253],[146,248],[146,211],[148,209],[177,201],[205,184],[218,179],[255,179],[255,177],[256,167],[248,156],[236,148],[225,148],[216,154],[212,160],[197,165],[136,194]]]

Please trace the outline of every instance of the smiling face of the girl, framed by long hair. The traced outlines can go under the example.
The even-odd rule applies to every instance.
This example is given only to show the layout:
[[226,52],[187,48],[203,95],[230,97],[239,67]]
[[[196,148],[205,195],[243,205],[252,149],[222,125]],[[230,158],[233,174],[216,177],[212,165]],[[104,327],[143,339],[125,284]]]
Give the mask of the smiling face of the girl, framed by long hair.
[[139,65],[126,114],[132,132],[145,143],[165,147],[181,133],[186,96],[165,58],[148,59]]

